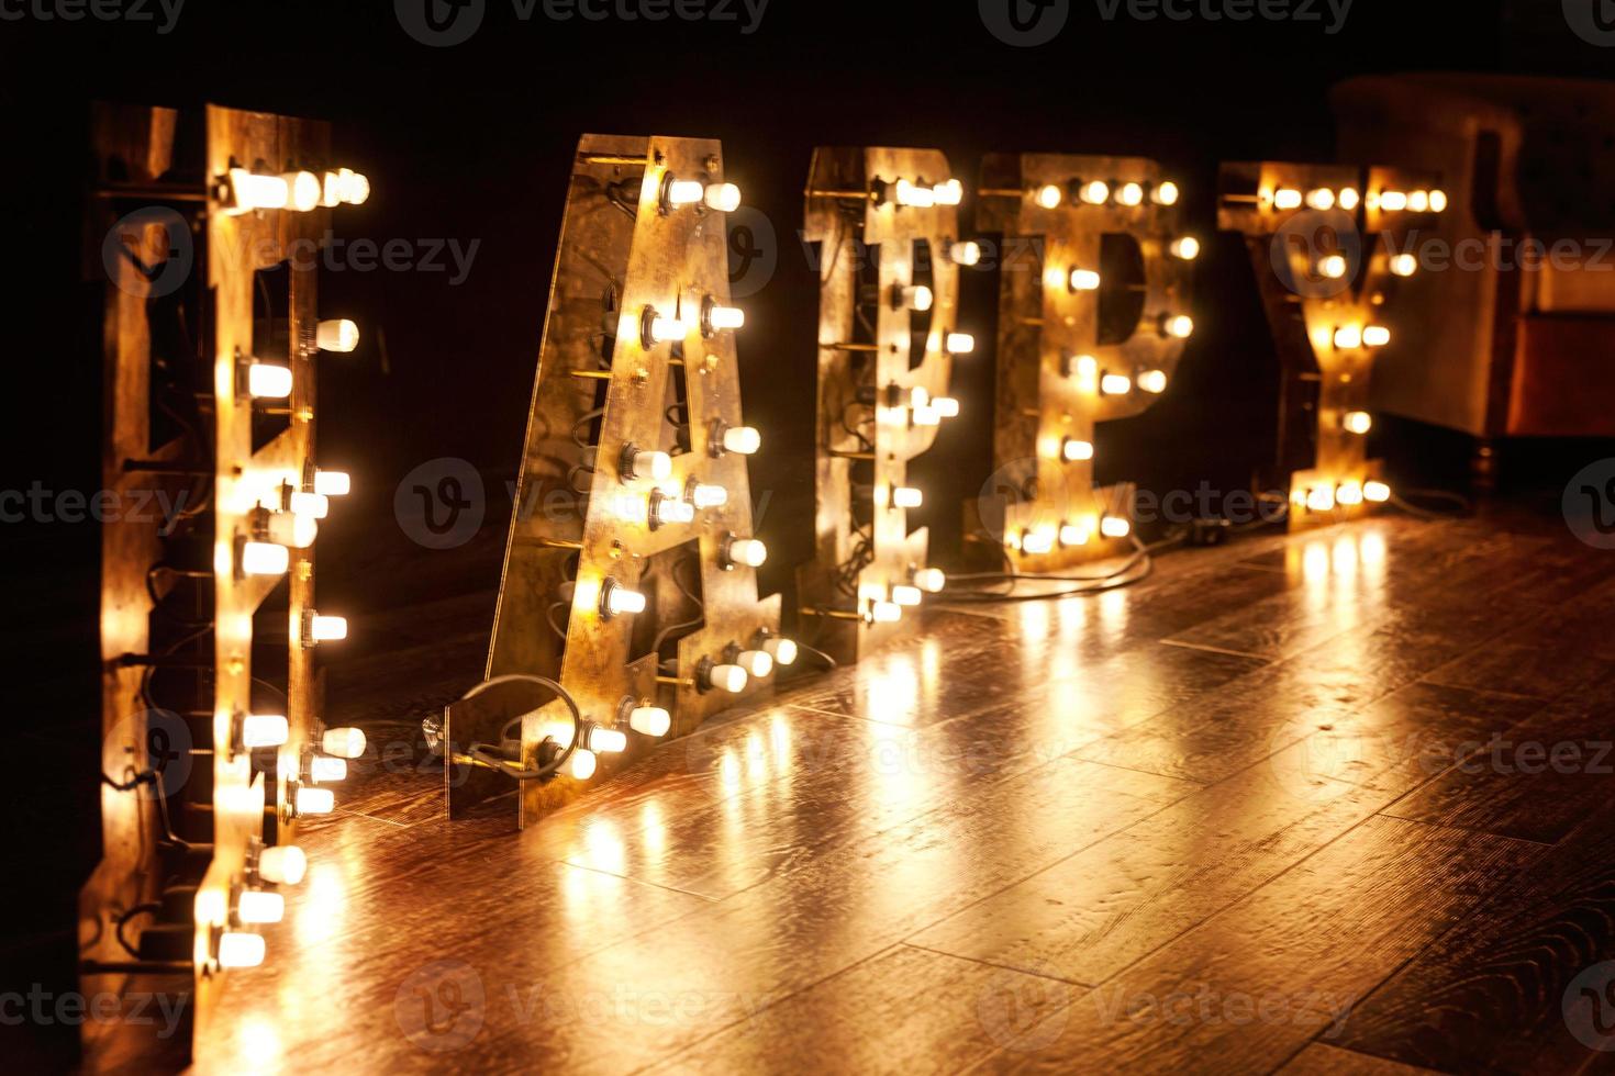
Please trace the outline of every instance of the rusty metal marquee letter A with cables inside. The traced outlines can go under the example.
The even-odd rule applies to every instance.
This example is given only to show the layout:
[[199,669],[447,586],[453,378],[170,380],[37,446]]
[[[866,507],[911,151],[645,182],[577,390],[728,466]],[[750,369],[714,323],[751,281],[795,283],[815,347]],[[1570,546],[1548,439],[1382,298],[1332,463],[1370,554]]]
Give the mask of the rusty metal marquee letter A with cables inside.
[[[727,540],[753,537],[746,457],[722,452],[719,439],[724,426],[743,426],[735,331],[701,324],[709,303],[728,305],[725,216],[703,203],[669,208],[670,176],[722,184],[720,145],[593,134],[578,144],[488,676],[557,679],[607,728],[625,700],[661,705],[673,718],[670,736],[682,736],[769,687],[753,678],[740,694],[709,690],[699,669],[777,632],[780,600],[757,597],[754,569],[724,568]],[[648,347],[648,308],[683,319],[685,337]],[[680,410],[669,415],[672,407]],[[670,476],[630,478],[622,465],[630,445],[670,453]],[[722,486],[728,500],[698,508],[690,523],[652,526],[651,497],[685,498],[691,482]],[[602,616],[607,579],[643,594],[646,610]],[[652,644],[675,624],[686,634],[664,639],[673,649],[659,678]],[[562,713],[549,705],[523,723],[530,765]],[[628,737],[627,752],[599,757],[594,781],[648,740]],[[522,821],[583,787],[572,776],[525,781]],[[451,800],[472,795],[451,789]]]

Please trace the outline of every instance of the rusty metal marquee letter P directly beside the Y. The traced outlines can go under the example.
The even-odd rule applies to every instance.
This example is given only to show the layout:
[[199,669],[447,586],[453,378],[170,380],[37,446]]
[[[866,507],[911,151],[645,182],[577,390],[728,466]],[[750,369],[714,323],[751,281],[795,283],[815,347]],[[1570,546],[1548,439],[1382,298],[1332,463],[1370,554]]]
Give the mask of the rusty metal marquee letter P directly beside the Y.
[[[1101,202],[1084,200],[1092,182],[1105,184]],[[1092,455],[1068,458],[1066,445],[1092,447],[1098,423],[1143,413],[1156,394],[1139,376],[1155,371],[1169,386],[1177,369],[1185,337],[1168,326],[1192,319],[1193,260],[1172,253],[1184,232],[1177,198],[1160,195],[1168,182],[1143,158],[993,153],[982,161],[977,227],[1003,234],[995,489],[966,505],[966,526],[996,547],[992,566],[1059,571],[1127,548],[1124,536],[1105,537],[1100,521],[1130,528],[1134,487],[1095,487]],[[1059,194],[1058,205],[1040,200],[1053,200],[1047,189]],[[1127,237],[1137,263],[1103,265],[1106,237]],[[1072,287],[1076,269],[1100,274],[1098,287]],[[1122,327],[1111,316],[1101,332],[1101,310],[1111,305]],[[1130,389],[1101,392],[1106,374],[1126,376]]]

